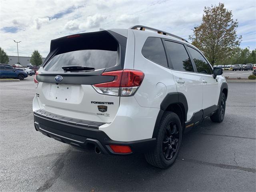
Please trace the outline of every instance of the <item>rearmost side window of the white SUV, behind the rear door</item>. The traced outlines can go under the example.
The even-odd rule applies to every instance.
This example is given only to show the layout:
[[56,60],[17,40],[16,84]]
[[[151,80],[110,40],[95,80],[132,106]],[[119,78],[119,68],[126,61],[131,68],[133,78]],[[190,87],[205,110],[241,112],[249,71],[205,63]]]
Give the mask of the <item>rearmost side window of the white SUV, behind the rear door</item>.
[[168,67],[164,46],[160,38],[147,38],[142,48],[142,55],[157,64]]

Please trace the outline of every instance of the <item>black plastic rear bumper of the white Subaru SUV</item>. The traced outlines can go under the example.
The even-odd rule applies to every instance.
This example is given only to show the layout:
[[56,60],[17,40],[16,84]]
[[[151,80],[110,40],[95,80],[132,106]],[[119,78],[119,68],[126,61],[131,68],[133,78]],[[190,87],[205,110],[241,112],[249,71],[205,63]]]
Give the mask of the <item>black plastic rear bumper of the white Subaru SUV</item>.
[[[100,149],[102,154],[129,155],[145,153],[154,148],[156,144],[156,138],[131,142],[111,140],[105,132],[98,130],[101,125],[102,123],[99,122],[70,119],[42,110],[34,112],[34,126],[37,131],[60,142],[84,149],[93,144]],[[110,144],[130,146],[132,152],[128,154],[115,153],[110,148]]]

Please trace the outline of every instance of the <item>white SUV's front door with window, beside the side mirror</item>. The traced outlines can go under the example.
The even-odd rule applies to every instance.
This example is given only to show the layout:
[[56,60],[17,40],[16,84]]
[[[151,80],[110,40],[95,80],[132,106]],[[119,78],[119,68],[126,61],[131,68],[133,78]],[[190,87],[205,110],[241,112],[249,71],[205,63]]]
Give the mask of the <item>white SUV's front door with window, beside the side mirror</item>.
[[198,75],[201,77],[203,84],[203,103],[202,109],[204,117],[208,116],[211,112],[218,108],[218,100],[220,95],[220,88],[218,80],[214,79],[212,74],[212,67],[206,58],[196,49],[187,46],[188,51],[193,59],[194,66]]

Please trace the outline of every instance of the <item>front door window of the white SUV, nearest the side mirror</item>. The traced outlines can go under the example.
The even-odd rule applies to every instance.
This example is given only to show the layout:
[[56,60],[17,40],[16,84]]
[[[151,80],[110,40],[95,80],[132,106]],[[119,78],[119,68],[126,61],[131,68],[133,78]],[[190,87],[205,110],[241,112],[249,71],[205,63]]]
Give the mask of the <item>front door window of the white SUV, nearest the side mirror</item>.
[[188,47],[188,50],[196,64],[197,71],[199,73],[212,74],[212,68],[210,68],[202,54],[191,47]]

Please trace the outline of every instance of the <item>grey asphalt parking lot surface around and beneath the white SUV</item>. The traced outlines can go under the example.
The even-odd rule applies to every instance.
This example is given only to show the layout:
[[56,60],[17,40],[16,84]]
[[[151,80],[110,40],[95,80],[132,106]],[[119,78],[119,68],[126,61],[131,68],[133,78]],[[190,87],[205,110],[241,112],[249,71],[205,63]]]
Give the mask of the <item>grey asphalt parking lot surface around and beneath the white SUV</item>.
[[33,125],[33,76],[0,82],[0,191],[255,191],[256,84],[228,86],[224,121],[186,133],[176,162],[160,170],[143,155],[98,155],[44,136]]

